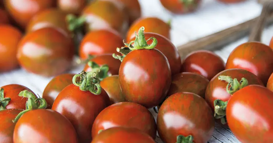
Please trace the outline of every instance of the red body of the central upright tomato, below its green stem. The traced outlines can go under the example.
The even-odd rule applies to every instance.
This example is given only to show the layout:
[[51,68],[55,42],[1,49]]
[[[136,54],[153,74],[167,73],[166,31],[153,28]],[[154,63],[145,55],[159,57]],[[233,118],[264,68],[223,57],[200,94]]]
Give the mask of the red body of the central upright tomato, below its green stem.
[[171,83],[168,60],[157,49],[131,51],[120,65],[119,76],[126,100],[146,108],[159,105]]

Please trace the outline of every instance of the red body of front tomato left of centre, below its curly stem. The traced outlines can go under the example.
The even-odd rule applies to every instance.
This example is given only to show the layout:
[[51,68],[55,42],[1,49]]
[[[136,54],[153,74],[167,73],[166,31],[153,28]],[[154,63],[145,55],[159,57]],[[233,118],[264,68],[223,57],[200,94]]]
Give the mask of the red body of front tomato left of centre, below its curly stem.
[[99,112],[109,105],[109,97],[103,89],[100,95],[94,95],[70,84],[59,93],[52,110],[61,113],[72,123],[80,143],[90,143],[93,122]]

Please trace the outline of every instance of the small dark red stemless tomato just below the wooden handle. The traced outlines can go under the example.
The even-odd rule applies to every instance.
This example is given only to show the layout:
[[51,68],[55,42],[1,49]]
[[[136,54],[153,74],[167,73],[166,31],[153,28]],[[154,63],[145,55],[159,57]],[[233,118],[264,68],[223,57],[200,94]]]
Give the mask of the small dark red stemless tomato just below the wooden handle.
[[197,73],[211,80],[217,73],[225,70],[225,63],[218,55],[207,50],[189,54],[182,62],[181,72]]

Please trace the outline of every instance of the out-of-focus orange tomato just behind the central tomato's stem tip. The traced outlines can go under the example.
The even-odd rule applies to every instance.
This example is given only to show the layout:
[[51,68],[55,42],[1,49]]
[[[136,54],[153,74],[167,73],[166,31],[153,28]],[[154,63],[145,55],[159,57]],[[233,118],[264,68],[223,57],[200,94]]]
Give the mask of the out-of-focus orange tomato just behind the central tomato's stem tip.
[[159,18],[147,17],[137,19],[130,26],[126,35],[126,41],[130,42],[130,39],[135,37],[135,32],[137,32],[141,27],[145,27],[145,32],[157,33],[170,39],[170,25],[168,25]]

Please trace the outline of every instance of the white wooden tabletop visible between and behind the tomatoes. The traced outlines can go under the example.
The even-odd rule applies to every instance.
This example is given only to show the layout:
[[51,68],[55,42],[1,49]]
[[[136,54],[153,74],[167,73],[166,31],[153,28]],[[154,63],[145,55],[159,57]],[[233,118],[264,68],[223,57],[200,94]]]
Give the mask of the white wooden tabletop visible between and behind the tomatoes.
[[[172,20],[171,39],[176,46],[255,18],[260,15],[262,8],[255,0],[239,4],[223,4],[216,0],[203,0],[198,11],[187,15],[173,15],[160,5],[159,0],[140,0],[140,3],[143,8],[143,16],[156,16],[164,21]],[[261,41],[269,44],[272,36],[273,26],[270,26],[263,32]],[[248,37],[244,37],[214,52],[226,61],[235,47],[247,41]],[[77,66],[68,72],[79,73],[82,69],[83,66]],[[1,73],[0,87],[6,84],[21,84],[42,95],[45,86],[51,79],[18,69],[9,73]],[[156,117],[156,113],[153,112],[153,115]],[[159,138],[157,138],[157,142],[161,143]],[[239,141],[229,129],[222,128],[217,124],[209,143],[239,143]]]

